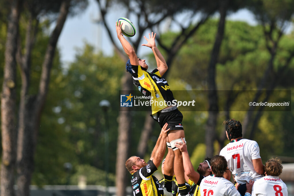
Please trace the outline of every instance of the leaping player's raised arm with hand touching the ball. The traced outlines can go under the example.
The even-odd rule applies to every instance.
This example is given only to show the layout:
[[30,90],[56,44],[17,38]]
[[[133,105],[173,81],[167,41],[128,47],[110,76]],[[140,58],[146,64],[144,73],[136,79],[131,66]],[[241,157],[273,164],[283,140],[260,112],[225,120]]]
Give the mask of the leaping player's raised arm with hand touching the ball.
[[133,46],[131,46],[131,44],[123,37],[123,34],[121,32],[122,24],[123,23],[121,21],[120,21],[120,24],[118,24],[118,22],[115,22],[117,37],[119,41],[121,42],[121,45],[123,46],[123,50],[128,55],[131,64],[139,65],[138,57]]

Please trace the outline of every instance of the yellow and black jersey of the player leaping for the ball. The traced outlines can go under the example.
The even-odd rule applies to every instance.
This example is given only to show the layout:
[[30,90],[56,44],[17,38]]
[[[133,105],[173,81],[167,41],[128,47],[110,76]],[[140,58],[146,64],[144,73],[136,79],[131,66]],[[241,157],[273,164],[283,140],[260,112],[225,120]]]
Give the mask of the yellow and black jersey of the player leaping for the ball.
[[147,97],[153,98],[151,104],[152,114],[166,108],[172,104],[173,93],[167,81],[161,77],[158,69],[147,72],[141,66],[132,65],[133,82],[139,91]]

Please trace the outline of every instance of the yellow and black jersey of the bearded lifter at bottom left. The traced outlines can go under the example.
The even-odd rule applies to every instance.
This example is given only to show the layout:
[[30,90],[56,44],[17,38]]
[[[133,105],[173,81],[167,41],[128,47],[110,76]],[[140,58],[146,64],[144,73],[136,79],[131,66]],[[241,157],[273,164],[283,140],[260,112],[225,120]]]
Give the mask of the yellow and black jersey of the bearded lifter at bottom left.
[[152,174],[157,170],[153,161],[149,160],[145,167],[132,174],[133,195],[163,196],[163,188]]

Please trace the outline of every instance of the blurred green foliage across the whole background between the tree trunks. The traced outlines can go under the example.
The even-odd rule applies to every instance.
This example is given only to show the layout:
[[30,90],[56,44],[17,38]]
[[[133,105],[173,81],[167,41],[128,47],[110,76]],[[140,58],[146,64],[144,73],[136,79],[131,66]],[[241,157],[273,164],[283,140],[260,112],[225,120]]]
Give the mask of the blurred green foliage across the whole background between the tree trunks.
[[[25,20],[21,19],[21,24]],[[175,57],[167,80],[171,89],[205,90],[207,65],[210,60],[217,20],[208,20]],[[32,51],[31,94],[35,94],[39,85],[41,65],[48,41],[49,21],[40,25],[42,32],[36,37],[36,47]],[[21,32],[24,26],[21,25]],[[270,55],[265,48],[265,39],[260,26],[250,26],[244,22],[227,21],[225,36],[220,49],[219,64],[216,67],[216,83],[219,90],[253,90],[256,89],[263,76]],[[167,45],[177,32],[167,32],[161,38]],[[6,26],[0,25],[0,67],[3,76]],[[21,34],[24,37],[24,34]],[[22,40],[24,42],[24,40]],[[24,43],[22,43],[24,44]],[[274,62],[274,69],[279,70],[286,62],[294,48],[293,34],[281,38],[279,50]],[[153,60],[148,64],[155,64]],[[118,91],[121,89],[121,78],[125,73],[125,62],[114,55],[106,57],[96,54],[93,46],[85,44],[79,49],[76,59],[69,65],[62,64],[59,51],[56,51],[51,83],[36,145],[35,171],[32,184],[66,184],[70,175],[70,183],[77,184],[78,177],[87,177],[87,184],[105,185],[105,152],[109,155],[110,185],[115,182],[116,143],[118,128]],[[278,89],[293,89],[293,61],[290,63],[285,76],[278,81]],[[18,81],[20,77],[18,76]],[[0,81],[3,77],[0,77]],[[19,88],[18,84],[18,88]],[[177,97],[176,97],[177,98]],[[99,102],[107,99],[111,103],[106,116],[99,107]],[[196,97],[196,104],[206,105],[206,97]],[[220,103],[225,104],[227,97],[220,96]],[[293,99],[293,96],[292,96]],[[232,111],[238,103],[245,102],[245,94],[234,97],[230,116],[242,122],[245,111]],[[276,100],[271,97],[271,100]],[[293,100],[292,100],[293,102]],[[195,167],[203,162],[205,157],[205,124],[208,113],[205,111],[183,113],[183,125]],[[146,112],[131,112],[133,116],[131,149],[129,154],[135,154],[138,138]],[[293,112],[264,112],[255,130],[254,139],[261,149],[261,157],[265,161],[271,155],[293,156]],[[226,112],[220,112],[217,122],[218,135],[223,136],[223,120]],[[139,130],[139,131],[138,131]],[[105,149],[105,132],[109,132],[109,149]],[[160,129],[155,123],[150,140],[148,141],[145,158],[150,153],[159,135]],[[225,143],[228,140],[225,141]],[[218,147],[215,146],[217,154]],[[70,162],[73,170],[64,168],[64,163]],[[122,163],[123,164],[123,163]]]

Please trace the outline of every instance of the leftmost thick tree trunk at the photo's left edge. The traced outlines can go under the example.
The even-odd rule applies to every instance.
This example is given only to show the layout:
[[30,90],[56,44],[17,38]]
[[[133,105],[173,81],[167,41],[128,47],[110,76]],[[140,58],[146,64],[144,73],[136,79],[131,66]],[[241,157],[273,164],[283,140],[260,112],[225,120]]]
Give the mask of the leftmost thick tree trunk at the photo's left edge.
[[8,18],[4,82],[1,94],[1,195],[14,196],[14,171],[16,164],[16,52],[19,34],[19,16],[22,1],[11,2]]

